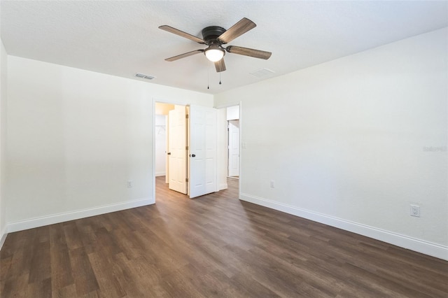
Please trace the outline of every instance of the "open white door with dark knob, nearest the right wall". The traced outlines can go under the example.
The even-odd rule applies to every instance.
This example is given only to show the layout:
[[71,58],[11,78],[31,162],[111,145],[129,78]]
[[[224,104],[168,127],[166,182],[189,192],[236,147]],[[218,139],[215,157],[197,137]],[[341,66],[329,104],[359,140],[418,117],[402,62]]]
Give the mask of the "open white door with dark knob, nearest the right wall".
[[190,106],[190,198],[217,191],[216,109]]

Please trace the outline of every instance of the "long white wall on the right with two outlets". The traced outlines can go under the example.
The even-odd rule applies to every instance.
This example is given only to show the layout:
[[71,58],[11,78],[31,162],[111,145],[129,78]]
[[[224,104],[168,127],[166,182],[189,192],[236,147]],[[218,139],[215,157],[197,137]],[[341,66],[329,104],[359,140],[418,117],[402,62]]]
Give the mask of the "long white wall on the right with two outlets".
[[241,199],[448,260],[447,36],[218,94],[242,101]]

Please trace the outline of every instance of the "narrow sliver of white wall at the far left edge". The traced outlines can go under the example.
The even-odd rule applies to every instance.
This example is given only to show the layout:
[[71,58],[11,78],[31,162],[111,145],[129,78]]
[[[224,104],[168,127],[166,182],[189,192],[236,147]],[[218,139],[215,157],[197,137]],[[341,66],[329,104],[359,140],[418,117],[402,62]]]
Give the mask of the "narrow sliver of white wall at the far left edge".
[[6,96],[7,96],[7,62],[6,50],[0,40],[0,249],[6,239]]

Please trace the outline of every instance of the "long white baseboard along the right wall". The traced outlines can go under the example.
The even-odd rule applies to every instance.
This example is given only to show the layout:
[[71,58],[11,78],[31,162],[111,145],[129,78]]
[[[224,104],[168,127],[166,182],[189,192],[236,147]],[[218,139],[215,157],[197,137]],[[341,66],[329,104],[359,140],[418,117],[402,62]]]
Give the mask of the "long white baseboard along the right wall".
[[342,218],[334,218],[332,216],[316,213],[314,211],[297,208],[287,204],[281,204],[276,201],[270,201],[268,199],[254,197],[250,194],[241,193],[239,199],[251,202],[253,204],[265,206],[267,208],[272,208],[277,211],[282,211],[285,213],[296,215],[301,218],[307,218],[308,220],[313,220],[315,222],[321,222],[324,225],[330,225],[332,227],[344,229],[349,232],[367,236],[373,239],[377,239],[379,241],[384,241],[386,243],[391,243],[395,246],[400,246],[402,248],[414,250],[418,253],[423,253],[425,255],[430,255],[432,257],[437,257],[439,259],[448,261],[448,246],[442,246],[437,243],[412,238],[394,232],[388,232],[384,229],[378,229],[376,227],[362,225],[357,222],[343,220]]

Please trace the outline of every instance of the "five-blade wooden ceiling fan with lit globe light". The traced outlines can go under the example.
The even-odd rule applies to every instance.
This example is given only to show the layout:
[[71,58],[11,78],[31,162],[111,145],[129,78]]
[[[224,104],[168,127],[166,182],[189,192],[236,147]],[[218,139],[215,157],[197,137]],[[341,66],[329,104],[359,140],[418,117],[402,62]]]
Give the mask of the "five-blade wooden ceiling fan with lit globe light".
[[269,57],[271,57],[272,55],[271,52],[266,52],[263,50],[254,50],[251,48],[242,48],[237,47],[235,45],[228,45],[227,47],[223,48],[223,45],[225,43],[230,43],[230,41],[233,41],[238,36],[245,34],[247,31],[255,28],[256,26],[257,25],[254,22],[247,19],[246,17],[243,17],[239,22],[237,22],[237,24],[234,24],[228,30],[225,30],[223,27],[219,26],[205,27],[204,29],[202,29],[202,38],[188,34],[184,31],[181,31],[179,29],[167,25],[160,26],[159,28],[162,30],[188,38],[191,41],[195,41],[197,43],[209,46],[204,50],[193,50],[191,52],[186,52],[181,55],[167,58],[165,60],[171,62],[177,59],[185,58],[203,52],[204,55],[207,57],[207,59],[209,59],[211,62],[214,62],[217,72],[225,71],[225,63],[223,57],[226,51],[233,54],[267,60],[269,59]]

